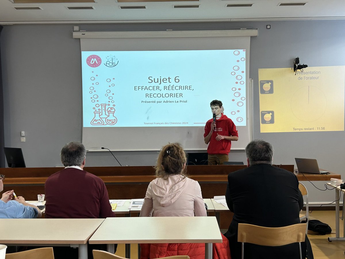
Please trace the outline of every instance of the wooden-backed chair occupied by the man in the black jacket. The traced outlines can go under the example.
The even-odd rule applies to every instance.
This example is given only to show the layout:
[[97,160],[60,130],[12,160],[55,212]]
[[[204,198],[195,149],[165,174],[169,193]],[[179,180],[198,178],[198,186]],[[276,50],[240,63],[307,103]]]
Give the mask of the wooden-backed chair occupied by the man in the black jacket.
[[244,258],[244,243],[260,246],[284,246],[297,242],[299,244],[299,258],[302,259],[301,242],[305,240],[306,227],[306,223],[281,228],[266,228],[239,223],[237,241],[242,242],[242,259]]

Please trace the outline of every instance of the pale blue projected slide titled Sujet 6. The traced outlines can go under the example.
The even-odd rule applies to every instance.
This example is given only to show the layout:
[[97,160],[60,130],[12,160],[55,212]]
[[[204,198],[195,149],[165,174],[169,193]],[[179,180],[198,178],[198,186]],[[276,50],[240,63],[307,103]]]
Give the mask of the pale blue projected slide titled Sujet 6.
[[245,49],[82,51],[83,127],[246,126]]

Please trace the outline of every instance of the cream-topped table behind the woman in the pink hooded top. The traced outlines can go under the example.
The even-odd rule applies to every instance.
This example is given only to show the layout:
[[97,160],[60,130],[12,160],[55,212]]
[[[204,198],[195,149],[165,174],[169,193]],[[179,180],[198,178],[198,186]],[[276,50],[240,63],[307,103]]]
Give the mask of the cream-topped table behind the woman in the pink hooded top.
[[212,243],[222,238],[215,217],[107,218],[89,239],[90,244],[206,243],[205,258],[212,258]]

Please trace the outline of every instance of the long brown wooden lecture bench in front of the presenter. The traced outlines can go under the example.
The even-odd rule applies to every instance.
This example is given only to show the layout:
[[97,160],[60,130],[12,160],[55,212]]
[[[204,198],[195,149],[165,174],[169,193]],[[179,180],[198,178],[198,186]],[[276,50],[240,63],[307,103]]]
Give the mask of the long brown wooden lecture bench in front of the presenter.
[[[211,199],[214,196],[224,195],[227,186],[227,175],[246,165],[189,165],[189,177],[198,181],[203,198]],[[280,165],[280,168],[293,172],[294,165]],[[14,190],[17,195],[26,200],[36,200],[38,193],[44,193],[44,183],[47,178],[61,167],[42,168],[0,168],[0,174],[6,175],[3,181],[4,191]],[[145,197],[149,182],[155,179],[153,166],[105,166],[84,167],[84,170],[99,176],[106,184],[109,199],[138,199]],[[339,174],[306,175],[311,181],[330,181],[331,178],[341,178]],[[303,175],[298,174],[299,181],[306,181]],[[227,228],[230,222],[228,215],[221,215],[221,228]],[[224,218],[224,220],[223,220]],[[222,223],[224,222],[224,224]],[[228,223],[227,223],[228,225]]]

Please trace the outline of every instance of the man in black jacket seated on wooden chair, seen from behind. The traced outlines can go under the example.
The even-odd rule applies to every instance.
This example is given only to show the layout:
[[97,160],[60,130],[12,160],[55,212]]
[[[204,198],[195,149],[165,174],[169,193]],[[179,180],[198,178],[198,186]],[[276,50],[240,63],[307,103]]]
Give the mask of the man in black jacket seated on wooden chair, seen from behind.
[[[263,140],[250,142],[246,147],[248,167],[228,175],[225,198],[234,217],[225,236],[229,239],[232,259],[241,258],[238,223],[272,228],[300,223],[303,198],[297,177],[272,166],[273,152],[272,145]],[[306,242],[309,243],[307,236]],[[302,256],[306,255],[306,242],[302,244]],[[292,259],[299,258],[299,249],[297,243],[280,247],[246,243],[244,254],[245,258]],[[308,258],[313,258],[310,243]]]

